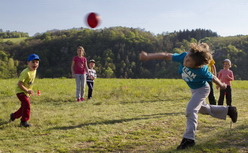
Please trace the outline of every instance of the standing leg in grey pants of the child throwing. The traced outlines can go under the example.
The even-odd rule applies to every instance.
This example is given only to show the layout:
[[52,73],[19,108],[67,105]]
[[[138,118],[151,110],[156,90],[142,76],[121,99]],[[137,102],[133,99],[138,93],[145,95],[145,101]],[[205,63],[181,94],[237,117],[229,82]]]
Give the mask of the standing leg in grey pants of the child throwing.
[[198,112],[201,109],[202,103],[206,100],[210,92],[210,88],[207,84],[206,86],[198,89],[191,89],[191,92],[192,97],[186,108],[187,128],[183,137],[195,140]]

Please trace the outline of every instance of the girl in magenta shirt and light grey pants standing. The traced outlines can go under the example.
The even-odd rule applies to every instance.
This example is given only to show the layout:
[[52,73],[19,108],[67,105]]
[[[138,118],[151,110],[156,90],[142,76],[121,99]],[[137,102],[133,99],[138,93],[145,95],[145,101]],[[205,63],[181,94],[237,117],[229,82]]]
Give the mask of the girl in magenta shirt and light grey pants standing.
[[76,80],[77,101],[84,101],[84,91],[86,85],[86,73],[88,73],[87,59],[84,57],[85,50],[82,46],[77,48],[77,56],[72,59],[71,73]]

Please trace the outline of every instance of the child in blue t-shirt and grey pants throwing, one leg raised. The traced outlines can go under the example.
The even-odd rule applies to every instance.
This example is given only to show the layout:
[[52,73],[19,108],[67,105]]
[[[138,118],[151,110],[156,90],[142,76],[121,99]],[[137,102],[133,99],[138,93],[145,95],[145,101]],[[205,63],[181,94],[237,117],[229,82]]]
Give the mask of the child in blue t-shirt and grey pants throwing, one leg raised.
[[212,59],[209,46],[206,43],[192,43],[188,52],[181,54],[172,53],[149,53],[142,51],[140,59],[143,61],[152,59],[166,59],[180,63],[179,74],[191,89],[192,97],[186,107],[187,127],[178,150],[195,145],[195,133],[197,129],[198,113],[211,115],[219,119],[226,119],[229,115],[232,122],[237,122],[238,113],[233,106],[216,106],[206,104],[210,87],[207,81],[213,81],[220,89],[225,89],[216,76],[208,71],[207,64]]

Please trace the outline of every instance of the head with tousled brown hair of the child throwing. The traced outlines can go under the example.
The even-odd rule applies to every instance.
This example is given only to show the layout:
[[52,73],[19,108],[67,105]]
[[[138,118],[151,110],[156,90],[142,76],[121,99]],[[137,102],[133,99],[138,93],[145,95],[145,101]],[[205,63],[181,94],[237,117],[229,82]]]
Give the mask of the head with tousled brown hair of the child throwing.
[[207,65],[213,59],[207,43],[191,43],[189,56],[195,61],[195,66]]

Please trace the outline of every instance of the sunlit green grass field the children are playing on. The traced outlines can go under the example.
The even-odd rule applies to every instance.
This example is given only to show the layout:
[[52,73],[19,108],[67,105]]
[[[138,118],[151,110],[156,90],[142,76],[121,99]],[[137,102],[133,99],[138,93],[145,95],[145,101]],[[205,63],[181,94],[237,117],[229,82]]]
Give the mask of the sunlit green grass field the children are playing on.
[[98,78],[93,99],[76,102],[74,79],[36,79],[34,90],[41,96],[31,97],[30,128],[19,127],[19,119],[8,123],[9,114],[20,107],[14,93],[17,79],[0,83],[0,152],[248,151],[248,81],[233,81],[238,122],[230,128],[230,118],[200,114],[196,146],[184,151],[175,149],[185,131],[191,96],[182,80]]

